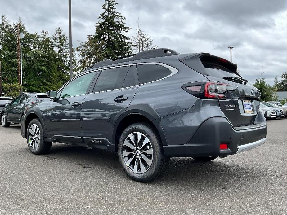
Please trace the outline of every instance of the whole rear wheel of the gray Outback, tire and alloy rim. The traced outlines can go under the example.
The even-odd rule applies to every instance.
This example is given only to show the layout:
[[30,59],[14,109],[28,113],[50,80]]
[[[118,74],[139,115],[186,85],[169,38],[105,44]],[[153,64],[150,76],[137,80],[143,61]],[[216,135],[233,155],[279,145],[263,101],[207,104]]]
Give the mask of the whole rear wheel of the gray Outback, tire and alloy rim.
[[118,152],[123,170],[138,182],[158,178],[169,162],[169,157],[164,156],[159,134],[147,123],[128,126],[120,137]]

